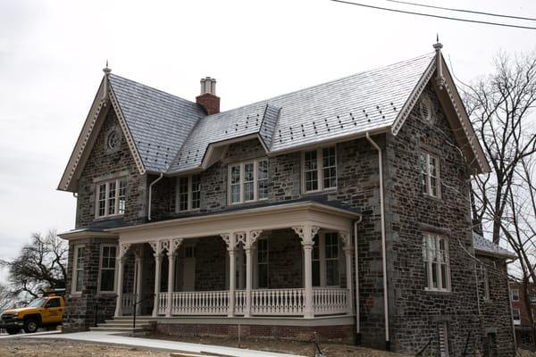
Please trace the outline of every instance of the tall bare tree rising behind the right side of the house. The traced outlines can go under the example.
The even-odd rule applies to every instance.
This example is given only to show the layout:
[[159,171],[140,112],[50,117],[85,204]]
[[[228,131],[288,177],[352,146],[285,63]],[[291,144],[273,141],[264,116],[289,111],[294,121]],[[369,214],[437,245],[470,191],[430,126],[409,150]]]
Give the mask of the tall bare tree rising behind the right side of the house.
[[536,152],[531,118],[536,103],[536,54],[514,58],[498,54],[495,68],[490,77],[462,88],[492,169],[475,179],[473,218],[477,231],[490,225],[493,242],[498,244],[516,170]]

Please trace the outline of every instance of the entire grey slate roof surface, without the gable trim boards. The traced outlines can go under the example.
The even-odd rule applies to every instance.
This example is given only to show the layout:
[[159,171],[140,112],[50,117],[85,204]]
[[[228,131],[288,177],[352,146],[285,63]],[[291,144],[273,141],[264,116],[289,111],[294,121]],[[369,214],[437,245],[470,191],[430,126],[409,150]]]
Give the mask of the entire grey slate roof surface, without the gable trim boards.
[[297,90],[226,112],[200,107],[110,74],[110,85],[146,170],[200,166],[209,145],[258,135],[269,152],[391,126],[434,53]]

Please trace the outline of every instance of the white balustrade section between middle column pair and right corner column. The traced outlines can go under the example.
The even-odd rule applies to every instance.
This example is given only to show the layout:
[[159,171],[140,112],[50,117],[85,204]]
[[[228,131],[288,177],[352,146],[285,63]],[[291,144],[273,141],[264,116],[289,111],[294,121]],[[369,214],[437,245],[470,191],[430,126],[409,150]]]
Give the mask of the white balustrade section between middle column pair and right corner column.
[[304,305],[303,288],[251,291],[252,315],[302,315]]

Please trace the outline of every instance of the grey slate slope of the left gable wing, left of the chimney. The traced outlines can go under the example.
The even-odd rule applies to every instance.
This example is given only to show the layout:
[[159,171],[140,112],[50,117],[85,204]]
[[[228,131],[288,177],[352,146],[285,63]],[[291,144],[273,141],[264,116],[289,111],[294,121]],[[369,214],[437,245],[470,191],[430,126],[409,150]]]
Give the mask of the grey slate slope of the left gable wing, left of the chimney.
[[114,74],[108,79],[146,170],[168,170],[205,112],[195,103],[133,80]]

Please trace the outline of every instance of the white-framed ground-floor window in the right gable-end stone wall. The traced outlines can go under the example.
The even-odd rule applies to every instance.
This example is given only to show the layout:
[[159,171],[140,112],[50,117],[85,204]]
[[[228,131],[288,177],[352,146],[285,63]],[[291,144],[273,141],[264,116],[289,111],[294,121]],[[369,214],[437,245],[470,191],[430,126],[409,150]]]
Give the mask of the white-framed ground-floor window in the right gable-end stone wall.
[[450,291],[448,240],[435,234],[423,234],[425,289]]

